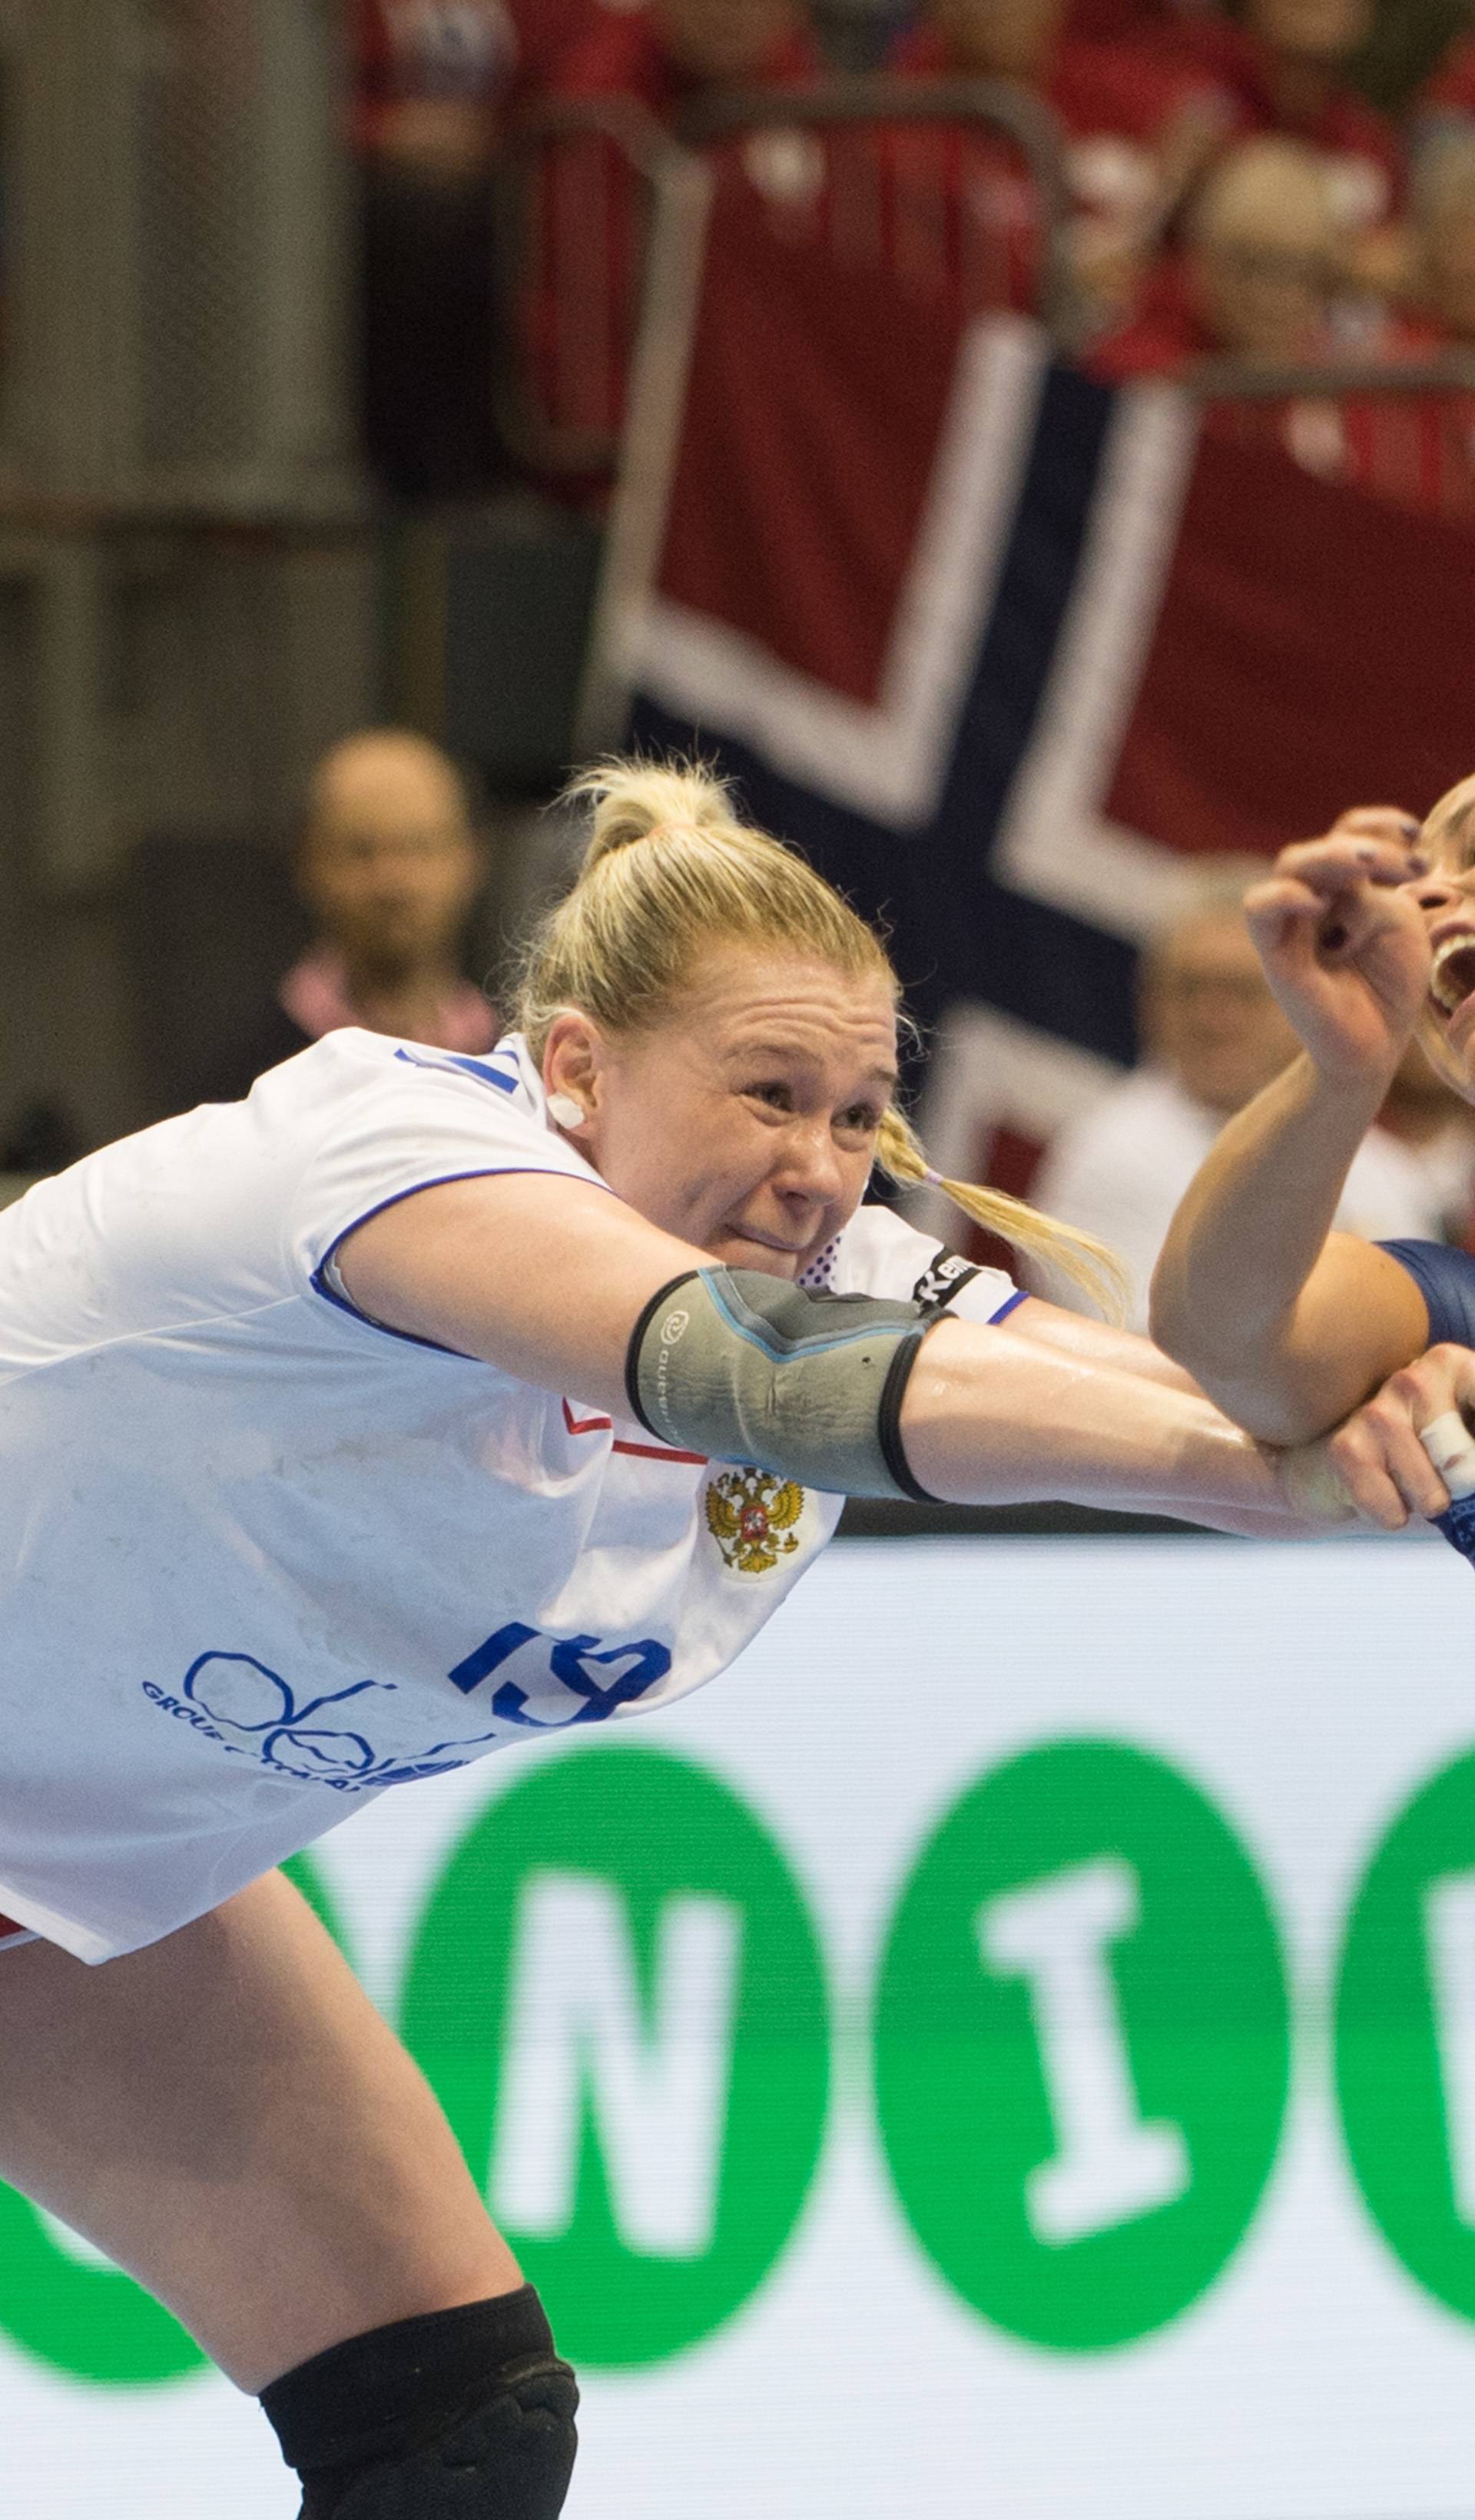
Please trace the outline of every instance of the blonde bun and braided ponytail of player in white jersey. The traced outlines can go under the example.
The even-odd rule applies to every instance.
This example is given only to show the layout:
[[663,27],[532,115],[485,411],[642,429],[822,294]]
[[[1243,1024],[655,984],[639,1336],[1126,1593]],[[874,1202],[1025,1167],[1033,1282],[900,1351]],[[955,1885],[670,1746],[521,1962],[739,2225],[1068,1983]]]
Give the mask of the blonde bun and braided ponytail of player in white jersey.
[[[739,822],[709,769],[600,761],[567,799],[593,806],[593,829],[572,890],[522,958],[517,1023],[535,1058],[570,1005],[608,1033],[661,1023],[701,958],[724,942],[782,945],[850,980],[882,980],[900,1011],[900,983],[875,930],[804,857]],[[893,1182],[943,1189],[986,1232],[1059,1268],[1107,1318],[1125,1315],[1127,1275],[1104,1242],[1004,1189],[940,1179],[895,1104],[875,1157]]]

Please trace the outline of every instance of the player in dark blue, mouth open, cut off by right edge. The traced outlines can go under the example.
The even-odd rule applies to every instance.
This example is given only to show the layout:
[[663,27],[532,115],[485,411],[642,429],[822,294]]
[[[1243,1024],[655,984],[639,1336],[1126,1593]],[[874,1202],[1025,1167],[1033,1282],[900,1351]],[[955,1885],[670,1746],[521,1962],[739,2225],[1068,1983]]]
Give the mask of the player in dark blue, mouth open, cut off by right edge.
[[1177,1210],[1152,1331],[1266,1441],[1346,1419],[1329,1464],[1397,1530],[1450,1507],[1430,1452],[1457,1492],[1475,1487],[1460,1421],[1475,1411],[1475,1257],[1362,1242],[1331,1217],[1414,1033],[1475,1101],[1475,779],[1422,832],[1377,806],[1286,849],[1246,915],[1304,1056],[1228,1124]]

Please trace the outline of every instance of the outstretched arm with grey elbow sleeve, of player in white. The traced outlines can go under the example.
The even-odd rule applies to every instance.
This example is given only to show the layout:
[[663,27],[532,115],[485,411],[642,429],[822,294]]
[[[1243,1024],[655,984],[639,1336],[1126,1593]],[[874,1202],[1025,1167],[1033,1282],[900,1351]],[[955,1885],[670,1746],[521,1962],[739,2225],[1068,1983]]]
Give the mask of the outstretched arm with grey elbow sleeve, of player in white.
[[[1278,1459],[1195,1394],[1006,1326],[933,1326],[900,1303],[857,1315],[714,1270],[593,1184],[499,1174],[424,1189],[361,1225],[338,1268],[388,1328],[814,1487],[1061,1497],[1256,1532],[1339,1520],[1331,1494],[1293,1504]],[[875,1336],[852,1336],[857,1318]]]

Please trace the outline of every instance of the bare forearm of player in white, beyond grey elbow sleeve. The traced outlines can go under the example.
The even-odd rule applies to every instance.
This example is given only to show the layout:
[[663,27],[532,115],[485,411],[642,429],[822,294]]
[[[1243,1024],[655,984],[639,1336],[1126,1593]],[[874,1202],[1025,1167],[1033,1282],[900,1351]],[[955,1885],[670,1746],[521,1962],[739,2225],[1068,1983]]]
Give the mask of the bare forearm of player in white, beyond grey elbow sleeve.
[[1319,1527],[1291,1507],[1278,1457],[1213,1401],[1046,1353],[1009,1328],[928,1338],[903,1444],[915,1479],[951,1504],[1061,1499],[1225,1532]]

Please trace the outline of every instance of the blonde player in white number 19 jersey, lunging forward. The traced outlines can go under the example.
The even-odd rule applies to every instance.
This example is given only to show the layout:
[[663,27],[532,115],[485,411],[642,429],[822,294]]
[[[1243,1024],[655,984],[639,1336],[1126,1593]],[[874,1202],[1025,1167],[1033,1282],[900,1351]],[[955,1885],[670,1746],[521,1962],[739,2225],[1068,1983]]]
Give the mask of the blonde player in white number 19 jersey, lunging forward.
[[552,2520],[575,2386],[272,1865],[709,1681],[847,1489],[1304,1527],[1145,1341],[860,1205],[923,1162],[845,902],[709,781],[595,794],[497,1053],[333,1033],[0,1220],[0,2175],[265,2397],[308,2520]]

